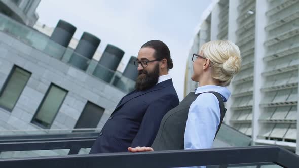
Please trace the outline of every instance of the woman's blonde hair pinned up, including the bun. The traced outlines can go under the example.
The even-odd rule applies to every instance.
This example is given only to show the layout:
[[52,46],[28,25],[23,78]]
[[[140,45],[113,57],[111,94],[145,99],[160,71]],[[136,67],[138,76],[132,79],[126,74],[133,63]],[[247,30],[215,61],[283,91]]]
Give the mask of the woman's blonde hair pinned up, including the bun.
[[218,80],[221,86],[230,85],[233,76],[241,69],[239,47],[232,41],[215,40],[203,44],[200,52],[210,60],[212,77]]

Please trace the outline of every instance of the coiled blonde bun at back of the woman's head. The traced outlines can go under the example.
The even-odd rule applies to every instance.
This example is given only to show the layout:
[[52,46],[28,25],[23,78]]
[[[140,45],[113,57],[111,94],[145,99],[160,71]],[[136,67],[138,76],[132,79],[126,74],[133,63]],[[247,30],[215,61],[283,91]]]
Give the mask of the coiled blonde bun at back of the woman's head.
[[237,56],[232,56],[227,59],[222,65],[222,71],[228,76],[232,76],[239,72],[241,59]]

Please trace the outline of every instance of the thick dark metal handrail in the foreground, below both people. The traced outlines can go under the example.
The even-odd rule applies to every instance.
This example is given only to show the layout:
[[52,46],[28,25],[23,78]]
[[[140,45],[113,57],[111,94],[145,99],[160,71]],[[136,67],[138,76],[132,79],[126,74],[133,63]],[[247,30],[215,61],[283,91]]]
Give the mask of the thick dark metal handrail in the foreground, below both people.
[[299,156],[276,145],[204,150],[106,153],[18,159],[0,159],[0,167],[185,167],[199,165],[274,163],[297,167]]

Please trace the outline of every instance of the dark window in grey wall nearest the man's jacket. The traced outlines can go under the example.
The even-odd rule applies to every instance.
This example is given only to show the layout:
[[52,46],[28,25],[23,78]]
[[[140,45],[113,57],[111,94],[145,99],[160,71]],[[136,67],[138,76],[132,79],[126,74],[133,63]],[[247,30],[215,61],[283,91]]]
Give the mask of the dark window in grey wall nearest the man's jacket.
[[105,109],[87,102],[74,128],[96,128]]

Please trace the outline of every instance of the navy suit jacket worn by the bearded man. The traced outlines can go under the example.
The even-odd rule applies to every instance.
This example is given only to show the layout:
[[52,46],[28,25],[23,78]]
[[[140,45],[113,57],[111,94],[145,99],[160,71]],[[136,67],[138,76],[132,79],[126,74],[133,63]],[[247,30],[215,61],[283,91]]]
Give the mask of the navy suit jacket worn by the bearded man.
[[122,98],[94,142],[90,153],[127,152],[151,146],[163,116],[179,104],[172,80]]

